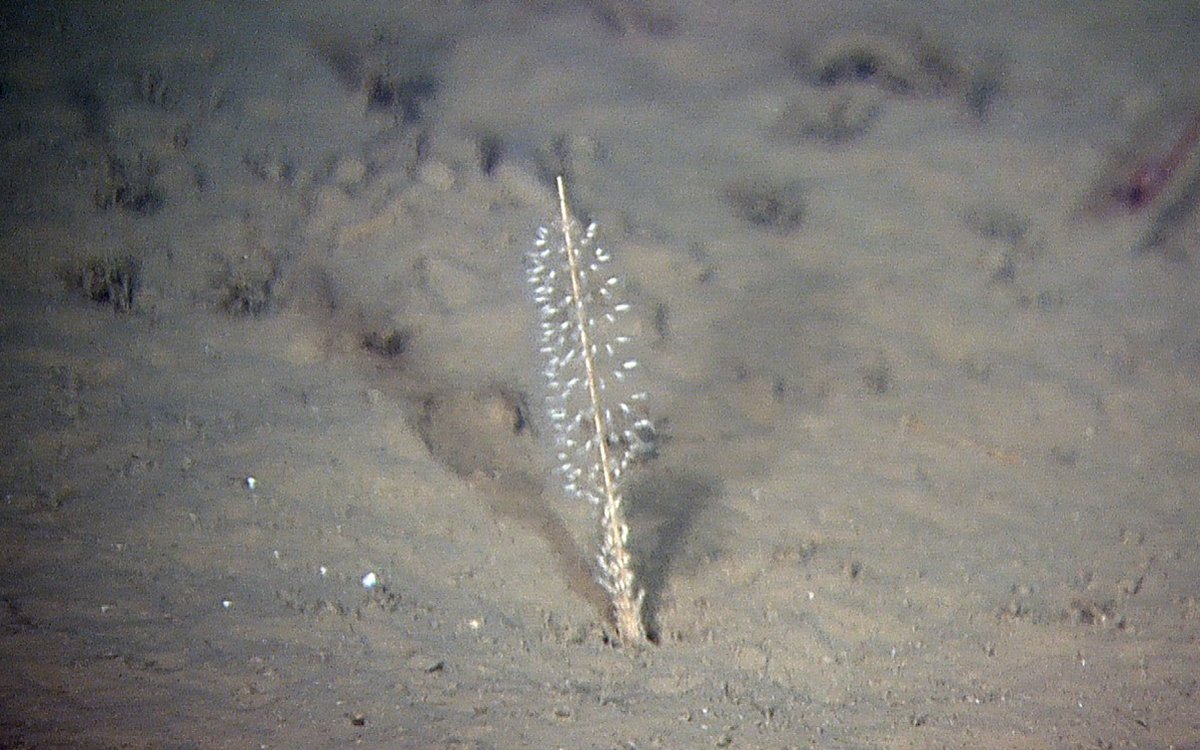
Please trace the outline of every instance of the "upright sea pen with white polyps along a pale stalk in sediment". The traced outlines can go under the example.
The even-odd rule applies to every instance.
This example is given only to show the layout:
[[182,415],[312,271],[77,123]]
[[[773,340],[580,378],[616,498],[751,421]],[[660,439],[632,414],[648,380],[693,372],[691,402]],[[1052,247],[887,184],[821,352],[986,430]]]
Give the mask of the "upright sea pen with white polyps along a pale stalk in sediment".
[[556,464],[564,492],[600,511],[596,580],[608,593],[618,640],[638,644],[646,642],[644,590],[634,576],[622,479],[653,425],[636,408],[644,394],[611,395],[637,367],[620,354],[630,341],[619,325],[629,305],[618,299],[619,278],[606,270],[612,256],[598,242],[596,224],[581,230],[562,176],[557,185],[559,216],[538,229],[526,258]]

